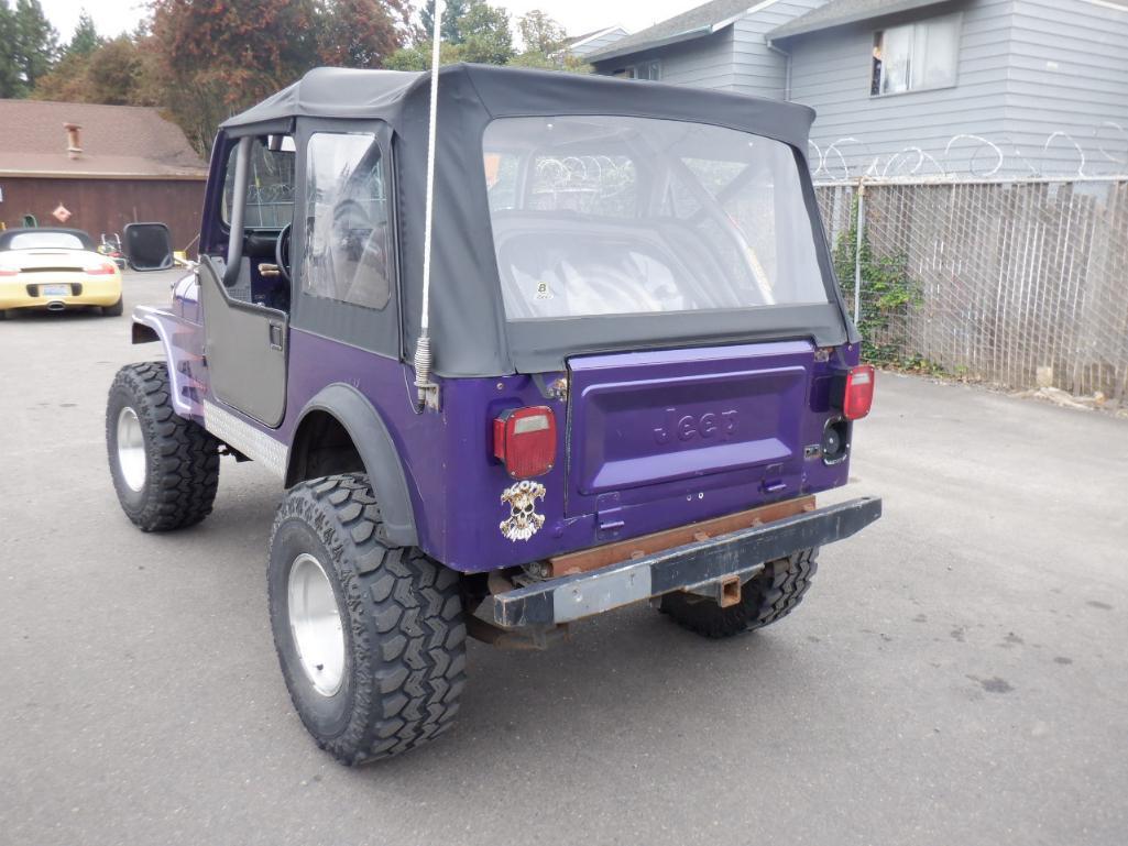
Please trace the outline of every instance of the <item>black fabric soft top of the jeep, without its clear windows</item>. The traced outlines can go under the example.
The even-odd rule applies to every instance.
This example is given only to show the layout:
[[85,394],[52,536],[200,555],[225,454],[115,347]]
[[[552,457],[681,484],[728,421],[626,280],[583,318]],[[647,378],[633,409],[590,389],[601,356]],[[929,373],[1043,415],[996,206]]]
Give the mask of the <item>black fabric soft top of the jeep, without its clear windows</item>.
[[[766,337],[811,337],[820,346],[844,343],[852,328],[834,284],[829,253],[807,165],[814,112],[807,106],[728,91],[523,68],[452,64],[439,74],[435,219],[431,281],[434,372],[494,376],[565,367],[571,354],[616,349],[739,343]],[[380,121],[390,130],[399,240],[398,306],[387,315],[403,327],[400,353],[409,359],[422,311],[429,72],[318,68],[289,88],[221,126],[227,136],[306,131],[324,122]],[[820,267],[829,303],[760,309],[756,315],[671,314],[581,317],[506,323],[499,280],[482,139],[499,117],[622,115],[713,124],[775,139],[793,148],[804,200],[820,241]],[[300,133],[299,133],[300,134]],[[832,292],[832,293],[831,293]],[[395,300],[391,308],[395,308]],[[770,314],[769,314],[770,312]],[[307,311],[311,314],[311,310]],[[293,325],[303,320],[300,305]],[[308,328],[329,337],[355,337],[362,327]],[[342,318],[343,320],[343,318]],[[387,336],[374,314],[364,332]]]

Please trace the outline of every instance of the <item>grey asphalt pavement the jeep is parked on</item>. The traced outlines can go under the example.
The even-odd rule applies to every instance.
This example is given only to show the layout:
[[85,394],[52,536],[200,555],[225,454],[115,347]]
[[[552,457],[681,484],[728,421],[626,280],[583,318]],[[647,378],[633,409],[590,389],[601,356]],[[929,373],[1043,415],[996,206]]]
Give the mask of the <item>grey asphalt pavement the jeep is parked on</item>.
[[226,459],[179,534],[117,506],[106,389],[168,281],[0,323],[0,844],[1128,843],[1128,421],[881,373],[826,500],[885,515],[786,620],[473,643],[457,725],[347,769],[274,656],[277,482]]

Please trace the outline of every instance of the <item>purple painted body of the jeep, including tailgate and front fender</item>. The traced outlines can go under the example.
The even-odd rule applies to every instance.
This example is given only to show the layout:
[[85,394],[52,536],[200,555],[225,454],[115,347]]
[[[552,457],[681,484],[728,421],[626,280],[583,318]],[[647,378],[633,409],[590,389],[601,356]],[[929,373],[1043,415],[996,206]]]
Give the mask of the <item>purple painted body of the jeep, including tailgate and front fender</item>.
[[[167,338],[186,416],[202,420],[209,380],[191,277],[177,284],[174,300],[169,311],[147,310],[143,318],[160,324]],[[335,382],[359,389],[399,451],[420,545],[464,572],[826,491],[848,474],[848,460],[828,466],[803,450],[820,442],[823,424],[836,416],[831,374],[857,362],[856,345],[825,361],[800,341],[578,356],[570,361],[567,400],[545,398],[528,376],[450,379],[439,414],[416,413],[412,371],[398,361],[294,328],[289,351],[281,426],[267,430],[229,411],[289,444],[318,391]],[[556,414],[557,460],[537,479],[546,490],[537,503],[544,527],[529,540],[511,541],[499,527],[510,513],[501,494],[513,479],[493,458],[492,421],[526,405],[548,405]]]

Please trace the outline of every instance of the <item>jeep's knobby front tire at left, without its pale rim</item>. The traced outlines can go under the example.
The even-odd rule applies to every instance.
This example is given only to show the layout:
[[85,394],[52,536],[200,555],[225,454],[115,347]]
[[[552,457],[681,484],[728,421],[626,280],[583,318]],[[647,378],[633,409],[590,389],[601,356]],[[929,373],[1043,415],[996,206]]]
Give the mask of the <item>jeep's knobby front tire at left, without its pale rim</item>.
[[[126,484],[117,458],[117,418],[125,406],[136,414],[144,439],[140,491]],[[117,499],[142,531],[183,529],[211,513],[219,486],[219,441],[173,411],[164,362],[127,364],[117,371],[106,405],[106,449]]]

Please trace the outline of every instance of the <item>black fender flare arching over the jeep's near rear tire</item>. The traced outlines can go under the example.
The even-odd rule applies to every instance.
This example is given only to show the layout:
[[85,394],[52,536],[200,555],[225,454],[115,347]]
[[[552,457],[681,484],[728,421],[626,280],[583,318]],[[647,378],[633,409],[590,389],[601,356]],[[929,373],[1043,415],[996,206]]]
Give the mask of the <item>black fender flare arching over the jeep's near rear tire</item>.
[[387,541],[393,546],[418,546],[418,530],[415,526],[415,509],[412,505],[407,475],[399,460],[399,451],[380,413],[363,394],[351,385],[335,382],[321,388],[306,403],[298,415],[294,438],[287,456],[285,486],[296,484],[293,478],[297,433],[311,412],[324,412],[344,426],[353,446],[360,452],[368,473],[372,493],[380,504]]

